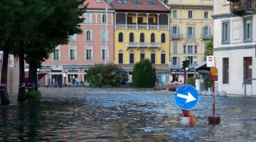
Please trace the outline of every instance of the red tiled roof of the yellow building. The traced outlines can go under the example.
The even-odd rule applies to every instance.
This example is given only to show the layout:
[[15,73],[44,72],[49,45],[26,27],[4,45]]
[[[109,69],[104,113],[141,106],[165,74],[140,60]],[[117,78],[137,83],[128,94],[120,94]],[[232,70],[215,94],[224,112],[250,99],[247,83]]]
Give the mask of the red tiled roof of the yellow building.
[[116,11],[170,12],[159,0],[114,0],[111,5]]

